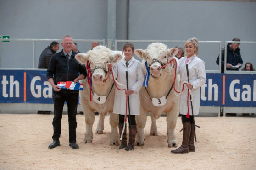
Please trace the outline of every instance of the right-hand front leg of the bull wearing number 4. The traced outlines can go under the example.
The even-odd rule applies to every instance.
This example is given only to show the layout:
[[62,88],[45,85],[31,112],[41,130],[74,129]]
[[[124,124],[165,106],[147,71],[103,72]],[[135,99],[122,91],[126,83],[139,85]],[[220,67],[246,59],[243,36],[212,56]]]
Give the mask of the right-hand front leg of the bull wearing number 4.
[[110,146],[119,145],[118,131],[117,131],[118,121],[119,121],[118,114],[110,113],[110,117],[109,117],[109,123],[111,126]]

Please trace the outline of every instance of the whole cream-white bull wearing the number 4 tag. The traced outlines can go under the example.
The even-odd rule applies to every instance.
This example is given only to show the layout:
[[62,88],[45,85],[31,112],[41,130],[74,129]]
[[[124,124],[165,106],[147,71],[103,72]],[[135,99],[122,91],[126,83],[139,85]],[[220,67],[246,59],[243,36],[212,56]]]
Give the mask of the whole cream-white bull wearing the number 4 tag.
[[[79,92],[80,104],[83,107],[85,116],[86,132],[84,134],[84,142],[92,143],[93,132],[92,127],[95,121],[94,111],[99,112],[99,122],[96,128],[96,134],[102,134],[104,129],[104,118],[106,113],[110,113],[110,145],[118,145],[118,114],[113,114],[115,86],[112,88],[113,80],[106,78],[108,68],[107,63],[115,65],[122,59],[121,54],[113,54],[113,52],[105,46],[97,46],[87,53],[79,53],[75,58],[82,64],[86,65],[89,61],[89,69],[92,73],[92,101],[90,101],[90,87],[87,78],[83,80],[83,91]],[[89,75],[89,74],[88,74]],[[87,76],[88,76],[87,75]],[[107,97],[107,98],[106,98]]]

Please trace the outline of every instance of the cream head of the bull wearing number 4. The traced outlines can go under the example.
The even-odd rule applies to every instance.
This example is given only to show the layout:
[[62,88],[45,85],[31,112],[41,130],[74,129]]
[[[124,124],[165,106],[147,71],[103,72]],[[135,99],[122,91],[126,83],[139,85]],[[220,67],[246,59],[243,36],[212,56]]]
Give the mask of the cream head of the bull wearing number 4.
[[113,54],[112,51],[105,46],[97,46],[87,53],[78,53],[75,58],[83,65],[89,61],[89,69],[92,74],[93,83],[101,83],[106,78],[109,71],[107,63],[115,65],[122,59],[119,53]]

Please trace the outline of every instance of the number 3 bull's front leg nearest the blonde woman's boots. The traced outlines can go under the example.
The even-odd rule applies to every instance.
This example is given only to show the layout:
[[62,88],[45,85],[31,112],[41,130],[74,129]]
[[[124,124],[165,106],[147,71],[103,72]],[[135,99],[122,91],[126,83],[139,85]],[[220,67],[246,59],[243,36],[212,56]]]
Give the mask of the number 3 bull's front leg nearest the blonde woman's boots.
[[176,122],[177,122],[177,117],[178,114],[176,112],[169,112],[166,117],[166,122],[167,122],[167,142],[168,142],[168,147],[177,147],[176,143],[176,136],[175,136],[175,127],[176,127]]

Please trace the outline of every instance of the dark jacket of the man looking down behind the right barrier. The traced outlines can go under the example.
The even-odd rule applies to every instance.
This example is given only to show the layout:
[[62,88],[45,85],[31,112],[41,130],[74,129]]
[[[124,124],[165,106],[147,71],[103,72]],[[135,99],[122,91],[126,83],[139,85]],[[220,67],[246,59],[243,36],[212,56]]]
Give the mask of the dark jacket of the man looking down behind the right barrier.
[[[222,53],[221,55],[221,72],[222,73],[224,73],[224,55],[225,53]],[[216,63],[219,65],[219,57],[217,58]],[[238,63],[243,64],[243,60],[240,54],[240,48],[236,48],[236,50],[232,50],[230,48],[230,44],[227,45],[227,63],[233,66],[236,66]],[[227,70],[238,71],[239,69],[227,68]]]

